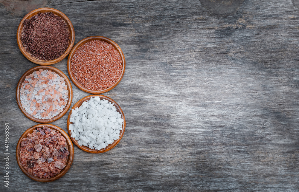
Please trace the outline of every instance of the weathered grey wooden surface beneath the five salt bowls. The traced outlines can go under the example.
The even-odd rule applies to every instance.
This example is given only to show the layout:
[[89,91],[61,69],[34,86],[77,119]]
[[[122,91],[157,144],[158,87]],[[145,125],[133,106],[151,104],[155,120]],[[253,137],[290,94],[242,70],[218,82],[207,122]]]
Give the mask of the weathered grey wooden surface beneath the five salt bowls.
[[[19,78],[36,66],[16,31],[39,7],[65,13],[75,43],[106,36],[126,58],[123,79],[103,94],[123,109],[122,140],[103,154],[75,146],[52,183],[26,177],[14,155],[37,124],[16,104]],[[0,18],[0,191],[299,191],[298,0],[0,0]],[[52,66],[68,75],[66,61]],[[89,95],[73,89],[72,105]],[[66,130],[66,120],[52,124]]]

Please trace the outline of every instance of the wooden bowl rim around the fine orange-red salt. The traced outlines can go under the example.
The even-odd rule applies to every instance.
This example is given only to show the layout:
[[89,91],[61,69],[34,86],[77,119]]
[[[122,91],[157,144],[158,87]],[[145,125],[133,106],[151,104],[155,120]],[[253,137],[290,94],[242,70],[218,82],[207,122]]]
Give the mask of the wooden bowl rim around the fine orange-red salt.
[[[123,65],[123,69],[121,70],[121,75],[118,78],[118,80],[116,81],[116,83],[106,89],[102,89],[102,90],[92,90],[92,89],[87,89],[85,86],[83,86],[74,76],[72,70],[71,70],[71,60],[72,57],[74,55],[74,53],[77,51],[77,49],[83,45],[84,43],[88,42],[88,41],[92,41],[92,40],[100,40],[100,41],[105,41],[109,44],[111,44],[119,53],[121,60],[122,60],[122,65]],[[125,56],[123,55],[123,51],[120,49],[120,47],[118,46],[118,44],[116,44],[114,41],[112,41],[109,38],[103,37],[103,36],[90,36],[87,38],[82,39],[81,41],[79,41],[71,50],[70,54],[68,55],[68,75],[70,76],[71,80],[73,81],[73,83],[82,91],[88,92],[88,93],[92,93],[92,94],[100,94],[100,93],[105,93],[107,91],[110,91],[111,89],[113,89],[119,82],[120,80],[123,78],[123,74],[125,73],[125,68],[126,68],[126,60],[125,60]]]

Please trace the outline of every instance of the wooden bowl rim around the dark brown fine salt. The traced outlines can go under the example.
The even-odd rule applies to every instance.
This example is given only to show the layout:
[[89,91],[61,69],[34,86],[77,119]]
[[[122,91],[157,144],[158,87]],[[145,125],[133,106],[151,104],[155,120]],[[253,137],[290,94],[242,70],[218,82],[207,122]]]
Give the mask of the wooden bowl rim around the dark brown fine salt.
[[[54,60],[50,60],[50,61],[38,60],[38,59],[32,57],[32,55],[25,50],[25,48],[23,47],[23,44],[21,42],[21,35],[22,35],[22,32],[23,32],[23,27],[24,27],[23,22],[24,22],[24,20],[29,19],[32,16],[35,16],[36,14],[41,13],[41,12],[52,12],[55,15],[60,16],[65,21],[65,23],[67,24],[68,30],[70,32],[70,41],[68,43],[68,48],[66,49],[66,51],[59,58],[54,59]],[[71,21],[69,20],[69,18],[65,14],[60,12],[59,10],[53,9],[53,8],[45,8],[45,7],[44,8],[39,8],[39,9],[36,9],[36,10],[33,10],[33,11],[29,12],[27,15],[25,15],[25,17],[20,22],[19,27],[18,27],[18,31],[17,31],[17,43],[18,43],[19,49],[21,50],[22,54],[29,61],[31,61],[33,63],[36,63],[36,64],[39,64],[39,65],[51,65],[51,64],[58,63],[59,61],[64,59],[68,55],[68,53],[71,51],[71,49],[72,49],[72,47],[74,46],[74,43],[75,43],[75,30],[74,30],[74,27],[73,27]]]

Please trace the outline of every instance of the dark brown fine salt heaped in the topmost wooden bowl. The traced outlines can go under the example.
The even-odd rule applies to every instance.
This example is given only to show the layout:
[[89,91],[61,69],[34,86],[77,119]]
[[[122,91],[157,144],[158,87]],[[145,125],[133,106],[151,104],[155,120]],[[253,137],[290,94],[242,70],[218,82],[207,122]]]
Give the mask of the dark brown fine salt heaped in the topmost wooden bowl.
[[24,21],[21,41],[34,58],[50,61],[66,51],[70,32],[61,17],[52,12],[38,13]]

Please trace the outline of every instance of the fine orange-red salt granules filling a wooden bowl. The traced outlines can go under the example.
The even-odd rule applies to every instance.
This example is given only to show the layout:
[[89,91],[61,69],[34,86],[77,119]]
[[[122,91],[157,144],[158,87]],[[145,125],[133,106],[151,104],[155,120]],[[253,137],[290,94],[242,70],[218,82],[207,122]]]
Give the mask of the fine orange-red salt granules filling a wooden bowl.
[[120,78],[122,60],[111,44],[100,40],[88,41],[74,53],[71,70],[87,89],[103,90]]

